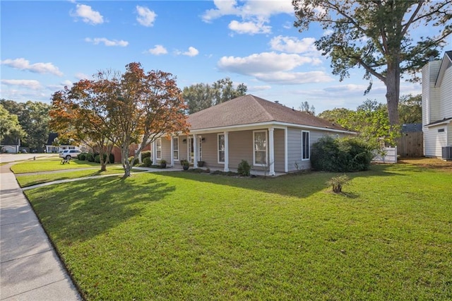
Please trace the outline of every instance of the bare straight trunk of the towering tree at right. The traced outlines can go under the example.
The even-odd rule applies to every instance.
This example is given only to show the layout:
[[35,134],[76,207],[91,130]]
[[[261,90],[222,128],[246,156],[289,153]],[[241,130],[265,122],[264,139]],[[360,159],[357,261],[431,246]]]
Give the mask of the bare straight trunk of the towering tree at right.
[[398,64],[388,64],[386,76],[386,102],[391,126],[398,125],[398,100],[400,95],[400,69]]

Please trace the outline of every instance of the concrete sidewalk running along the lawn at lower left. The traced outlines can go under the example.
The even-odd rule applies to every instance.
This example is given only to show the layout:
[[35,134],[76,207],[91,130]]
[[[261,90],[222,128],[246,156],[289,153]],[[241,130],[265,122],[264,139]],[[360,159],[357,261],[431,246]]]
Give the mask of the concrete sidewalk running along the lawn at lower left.
[[82,300],[10,166],[0,166],[0,300]]

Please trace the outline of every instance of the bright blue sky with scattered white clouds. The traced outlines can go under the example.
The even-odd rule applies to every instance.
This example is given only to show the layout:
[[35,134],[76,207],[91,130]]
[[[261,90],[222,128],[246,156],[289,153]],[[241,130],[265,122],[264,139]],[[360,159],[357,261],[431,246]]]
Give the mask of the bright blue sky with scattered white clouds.
[[[0,5],[0,98],[50,103],[64,85],[138,61],[146,71],[172,73],[181,89],[229,77],[250,94],[295,108],[307,101],[316,113],[355,109],[367,98],[386,102],[376,79],[363,95],[362,69],[343,82],[331,74],[313,45],[323,31],[314,25],[299,33],[291,0]],[[401,95],[420,92],[419,83],[401,83]]]

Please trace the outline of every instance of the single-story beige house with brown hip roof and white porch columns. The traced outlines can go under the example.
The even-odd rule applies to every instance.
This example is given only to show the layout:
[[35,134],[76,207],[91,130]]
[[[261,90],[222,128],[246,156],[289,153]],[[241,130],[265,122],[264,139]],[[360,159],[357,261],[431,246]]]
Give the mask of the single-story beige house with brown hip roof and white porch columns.
[[157,138],[154,163],[177,166],[203,161],[210,170],[237,170],[242,160],[251,170],[275,175],[311,168],[313,143],[322,136],[355,134],[343,127],[254,95],[234,98],[190,114],[189,134]]

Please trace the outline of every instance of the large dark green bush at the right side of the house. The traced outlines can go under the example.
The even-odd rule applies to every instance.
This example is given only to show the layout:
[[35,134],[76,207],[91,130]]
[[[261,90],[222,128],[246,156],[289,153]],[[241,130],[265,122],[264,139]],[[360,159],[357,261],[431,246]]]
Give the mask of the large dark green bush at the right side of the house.
[[312,145],[311,166],[327,172],[368,170],[373,158],[371,147],[358,138],[324,136]]

